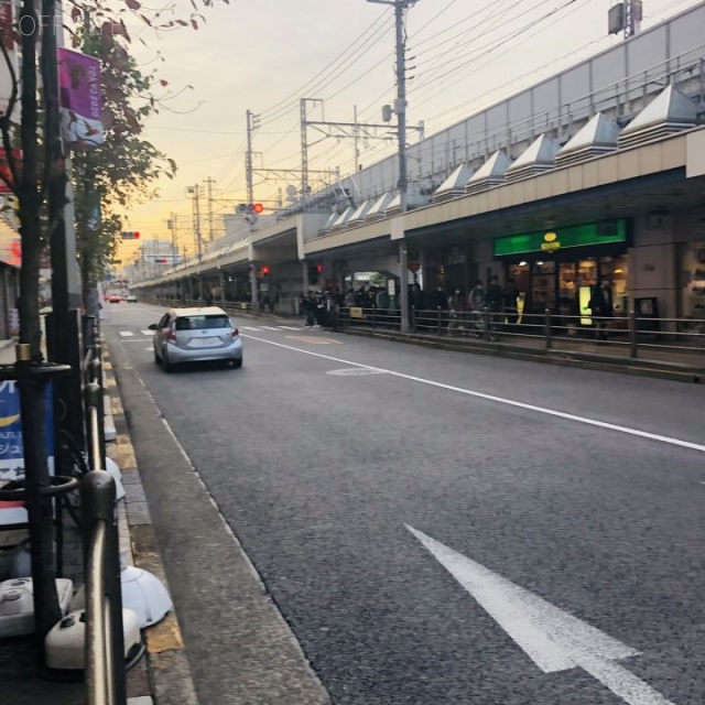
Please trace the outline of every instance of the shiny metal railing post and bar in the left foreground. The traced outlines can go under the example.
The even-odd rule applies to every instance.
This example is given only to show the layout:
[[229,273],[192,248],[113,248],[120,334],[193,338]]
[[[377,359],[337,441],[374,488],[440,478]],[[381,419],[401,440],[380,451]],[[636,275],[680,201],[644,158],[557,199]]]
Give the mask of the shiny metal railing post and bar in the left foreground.
[[86,319],[84,400],[90,473],[82,480],[86,562],[87,705],[126,705],[124,637],[116,482],[106,471],[100,332]]

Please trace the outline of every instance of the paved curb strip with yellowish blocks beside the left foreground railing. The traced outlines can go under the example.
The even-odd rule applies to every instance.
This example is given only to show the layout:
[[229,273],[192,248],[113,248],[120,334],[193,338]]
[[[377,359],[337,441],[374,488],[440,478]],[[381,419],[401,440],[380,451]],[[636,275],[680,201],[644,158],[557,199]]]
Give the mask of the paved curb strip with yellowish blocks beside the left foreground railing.
[[[122,473],[124,500],[118,505],[118,528],[123,563],[155,575],[171,594],[140,470],[130,437],[129,422],[122,408],[110,356],[104,347],[106,417],[116,430],[115,459]],[[159,623],[144,630],[147,655],[143,668],[128,672],[129,705],[197,705],[196,691],[186,659],[186,648],[175,608]]]

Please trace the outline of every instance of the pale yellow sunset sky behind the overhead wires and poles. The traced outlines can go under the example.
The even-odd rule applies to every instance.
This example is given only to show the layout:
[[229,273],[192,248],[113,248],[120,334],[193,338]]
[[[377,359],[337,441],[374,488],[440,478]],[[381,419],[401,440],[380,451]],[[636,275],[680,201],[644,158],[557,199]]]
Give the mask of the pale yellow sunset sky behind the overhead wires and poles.
[[[144,0],[160,19],[189,19],[191,0]],[[195,0],[198,2],[198,0]],[[186,189],[210,183],[213,213],[234,213],[246,202],[246,111],[258,116],[254,165],[301,169],[300,105],[310,120],[381,122],[393,102],[394,22],[391,7],[366,0],[230,0],[203,8],[198,29],[154,31],[132,20],[130,51],[160,88],[160,113],[145,137],[176,161],[178,174],[156,185],[159,198],[137,205],[128,230],[141,239],[169,239],[175,215],[178,243],[193,245],[192,200]],[[150,3],[154,3],[153,6]],[[607,35],[612,0],[417,0],[408,11],[408,121],[423,121],[426,137],[474,112],[619,43]],[[697,4],[643,0],[642,28]],[[205,20],[205,21],[204,21]],[[322,139],[310,130],[310,169],[355,169],[349,139]],[[413,134],[410,141],[414,141]],[[315,144],[314,144],[315,143]],[[362,144],[360,163],[393,153],[393,141]],[[274,205],[299,176],[258,174],[254,200]],[[285,194],[284,194],[285,199]],[[207,214],[202,199],[202,214]],[[202,231],[208,230],[207,215]],[[122,247],[129,258],[137,243]]]

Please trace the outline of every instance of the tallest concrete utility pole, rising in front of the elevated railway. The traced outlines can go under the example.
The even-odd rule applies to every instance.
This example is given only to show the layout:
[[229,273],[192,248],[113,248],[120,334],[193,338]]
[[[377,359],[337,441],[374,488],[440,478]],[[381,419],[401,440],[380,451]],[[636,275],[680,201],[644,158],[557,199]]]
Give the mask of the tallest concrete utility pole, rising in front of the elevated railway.
[[[404,32],[404,10],[416,4],[417,0],[367,0],[376,4],[389,4],[394,8],[394,24],[397,35],[397,101],[394,112],[397,113],[397,137],[399,143],[399,205],[401,217],[406,213],[406,195],[409,189],[409,173],[406,167],[406,37]],[[401,302],[401,329],[409,330],[409,262],[406,238],[403,230],[392,232],[399,242],[399,264],[401,270],[399,292]]]

